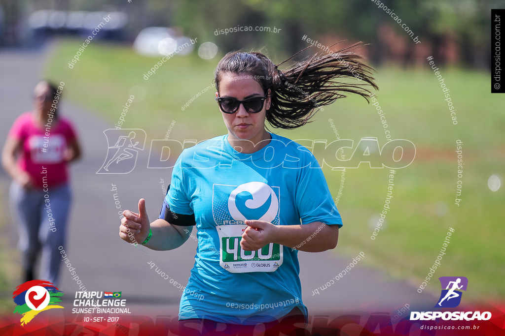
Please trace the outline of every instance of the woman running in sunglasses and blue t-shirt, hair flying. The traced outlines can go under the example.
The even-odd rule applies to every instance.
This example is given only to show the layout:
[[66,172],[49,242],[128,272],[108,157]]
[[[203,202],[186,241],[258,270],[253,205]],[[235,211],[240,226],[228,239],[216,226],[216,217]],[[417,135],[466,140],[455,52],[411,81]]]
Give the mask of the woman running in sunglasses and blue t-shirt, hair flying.
[[228,134],[181,153],[159,219],[149,223],[144,199],[123,212],[119,236],[154,250],[181,246],[196,226],[179,320],[230,330],[305,322],[297,252],[333,249],[342,221],[312,153],[266,121],[297,128],[346,93],[367,98],[372,69],[347,49],[284,71],[259,52],[225,55],[215,82]]

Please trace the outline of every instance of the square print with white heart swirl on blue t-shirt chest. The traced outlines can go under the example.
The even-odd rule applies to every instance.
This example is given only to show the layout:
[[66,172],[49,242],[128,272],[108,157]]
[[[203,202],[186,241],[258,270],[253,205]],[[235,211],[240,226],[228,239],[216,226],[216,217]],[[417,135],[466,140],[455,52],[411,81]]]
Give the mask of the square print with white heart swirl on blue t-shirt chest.
[[279,223],[279,187],[252,181],[240,185],[213,185],[212,210],[217,225],[245,220]]

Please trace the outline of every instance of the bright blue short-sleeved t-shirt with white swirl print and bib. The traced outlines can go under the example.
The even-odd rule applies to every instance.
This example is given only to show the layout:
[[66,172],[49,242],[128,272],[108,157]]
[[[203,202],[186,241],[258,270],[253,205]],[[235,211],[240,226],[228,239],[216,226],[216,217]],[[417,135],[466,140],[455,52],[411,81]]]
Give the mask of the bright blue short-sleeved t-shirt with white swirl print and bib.
[[177,159],[165,203],[175,214],[194,214],[198,238],[179,319],[256,324],[294,307],[307,315],[298,251],[278,244],[242,251],[243,221],[342,226],[342,220],[312,153],[271,137],[261,150],[242,154],[227,135],[220,136],[185,149]]

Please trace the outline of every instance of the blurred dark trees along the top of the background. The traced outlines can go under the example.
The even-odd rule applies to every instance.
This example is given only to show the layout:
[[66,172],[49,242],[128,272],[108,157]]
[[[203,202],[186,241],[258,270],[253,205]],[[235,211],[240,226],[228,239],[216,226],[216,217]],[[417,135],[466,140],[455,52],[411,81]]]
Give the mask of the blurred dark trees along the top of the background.
[[[27,44],[24,27],[36,10],[119,11],[128,15],[125,39],[133,41],[148,26],[179,27],[186,36],[213,41],[224,52],[269,46],[269,52],[293,54],[307,43],[307,34],[324,45],[342,39],[370,43],[368,56],[375,65],[387,62],[404,67],[424,62],[426,55],[437,64],[457,64],[466,68],[489,68],[490,9],[500,8],[498,0],[388,0],[382,5],[392,10],[418,36],[413,43],[400,24],[370,0],[0,0],[0,46]],[[381,5],[381,6],[382,6]],[[0,13],[1,13],[0,12]],[[3,17],[3,19],[2,19]],[[216,29],[237,26],[267,26],[282,29],[283,39],[273,34],[243,32],[215,35]],[[275,42],[275,43],[272,43]]]

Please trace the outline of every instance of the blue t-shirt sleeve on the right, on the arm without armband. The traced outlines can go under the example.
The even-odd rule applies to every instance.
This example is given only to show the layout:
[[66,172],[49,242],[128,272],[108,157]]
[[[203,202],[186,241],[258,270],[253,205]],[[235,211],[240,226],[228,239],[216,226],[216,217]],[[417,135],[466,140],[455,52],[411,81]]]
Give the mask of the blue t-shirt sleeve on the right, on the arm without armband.
[[301,224],[322,222],[342,227],[342,219],[328,188],[328,183],[317,160],[301,168],[301,176],[296,185],[296,206]]

